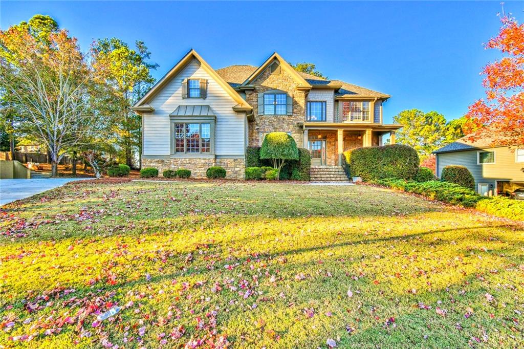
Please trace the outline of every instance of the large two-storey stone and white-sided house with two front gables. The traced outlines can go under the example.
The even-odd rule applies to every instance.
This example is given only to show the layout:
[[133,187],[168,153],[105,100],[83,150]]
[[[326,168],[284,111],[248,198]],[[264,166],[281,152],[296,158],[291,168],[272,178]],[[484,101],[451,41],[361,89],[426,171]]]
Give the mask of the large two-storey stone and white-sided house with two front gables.
[[383,124],[389,95],[294,70],[278,53],[259,67],[214,70],[194,50],[142,97],[143,167],[188,168],[204,177],[213,165],[243,178],[246,147],[287,132],[308,148],[313,166],[339,166],[342,152],[395,143],[400,125]]

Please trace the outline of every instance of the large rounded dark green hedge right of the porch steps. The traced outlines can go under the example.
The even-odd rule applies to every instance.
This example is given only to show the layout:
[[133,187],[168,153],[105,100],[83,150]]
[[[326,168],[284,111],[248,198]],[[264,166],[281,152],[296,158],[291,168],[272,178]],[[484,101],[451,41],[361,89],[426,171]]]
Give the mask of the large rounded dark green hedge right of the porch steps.
[[350,157],[351,175],[363,181],[413,179],[420,162],[415,149],[401,144],[357,148],[347,157]]

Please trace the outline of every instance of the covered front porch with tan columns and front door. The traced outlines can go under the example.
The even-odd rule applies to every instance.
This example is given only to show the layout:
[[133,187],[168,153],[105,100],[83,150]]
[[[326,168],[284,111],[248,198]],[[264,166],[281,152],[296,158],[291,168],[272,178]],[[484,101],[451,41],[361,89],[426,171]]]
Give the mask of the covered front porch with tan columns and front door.
[[394,129],[304,127],[304,146],[311,151],[311,166],[340,166],[342,153],[360,147],[395,144]]

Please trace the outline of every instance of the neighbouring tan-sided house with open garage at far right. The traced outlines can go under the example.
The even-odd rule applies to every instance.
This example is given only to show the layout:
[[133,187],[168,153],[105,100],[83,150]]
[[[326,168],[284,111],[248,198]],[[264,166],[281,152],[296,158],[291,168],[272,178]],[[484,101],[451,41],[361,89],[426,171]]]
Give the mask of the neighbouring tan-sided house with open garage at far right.
[[524,188],[524,147],[494,146],[493,132],[478,133],[477,140],[466,136],[434,151],[436,175],[440,178],[445,166],[461,165],[473,174],[475,191],[481,195],[509,195]]

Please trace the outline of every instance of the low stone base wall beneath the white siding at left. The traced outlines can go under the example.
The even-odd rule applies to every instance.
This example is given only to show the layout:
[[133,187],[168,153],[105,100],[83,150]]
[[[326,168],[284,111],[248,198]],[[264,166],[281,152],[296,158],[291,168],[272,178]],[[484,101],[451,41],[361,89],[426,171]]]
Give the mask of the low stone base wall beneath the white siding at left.
[[205,172],[211,166],[222,166],[226,170],[226,179],[244,179],[246,161],[241,159],[215,158],[170,158],[170,159],[142,159],[142,167],[158,169],[158,176],[167,169],[178,170],[186,168],[191,171],[192,178],[206,178]]

